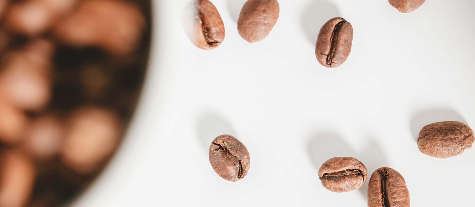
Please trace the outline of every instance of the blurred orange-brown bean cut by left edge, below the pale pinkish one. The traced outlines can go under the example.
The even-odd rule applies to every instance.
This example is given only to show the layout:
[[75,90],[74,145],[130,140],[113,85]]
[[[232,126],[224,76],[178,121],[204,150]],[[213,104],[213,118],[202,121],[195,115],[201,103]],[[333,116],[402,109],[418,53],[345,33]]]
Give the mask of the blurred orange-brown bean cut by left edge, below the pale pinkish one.
[[18,143],[28,126],[28,117],[0,95],[0,142]]

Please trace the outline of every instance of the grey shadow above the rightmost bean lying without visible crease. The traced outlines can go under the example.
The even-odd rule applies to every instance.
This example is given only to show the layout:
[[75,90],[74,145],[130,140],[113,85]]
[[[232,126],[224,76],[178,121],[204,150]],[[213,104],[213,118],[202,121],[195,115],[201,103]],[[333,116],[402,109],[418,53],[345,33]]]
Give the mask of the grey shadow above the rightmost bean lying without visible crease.
[[422,110],[416,113],[410,122],[411,134],[415,141],[419,136],[422,127],[441,121],[459,121],[466,123],[464,117],[452,109],[431,109]]

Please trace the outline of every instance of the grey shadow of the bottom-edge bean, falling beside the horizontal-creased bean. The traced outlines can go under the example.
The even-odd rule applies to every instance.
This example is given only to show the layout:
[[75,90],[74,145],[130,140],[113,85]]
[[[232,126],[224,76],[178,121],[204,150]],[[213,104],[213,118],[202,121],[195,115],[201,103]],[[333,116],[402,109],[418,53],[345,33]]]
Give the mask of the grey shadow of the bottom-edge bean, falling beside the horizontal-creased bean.
[[363,198],[367,198],[368,183],[370,182],[373,171],[380,167],[390,166],[386,155],[382,148],[374,141],[375,138],[370,138],[368,144],[361,150],[357,159],[361,161],[368,169],[368,178],[363,186],[358,191]]

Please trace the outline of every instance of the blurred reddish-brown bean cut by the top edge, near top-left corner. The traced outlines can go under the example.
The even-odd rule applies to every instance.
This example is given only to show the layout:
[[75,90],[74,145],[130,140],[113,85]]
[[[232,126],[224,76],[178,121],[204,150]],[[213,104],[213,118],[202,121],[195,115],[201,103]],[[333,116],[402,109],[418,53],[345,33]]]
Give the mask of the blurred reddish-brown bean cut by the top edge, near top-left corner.
[[26,36],[38,36],[73,9],[76,0],[28,0],[10,5],[6,27]]

